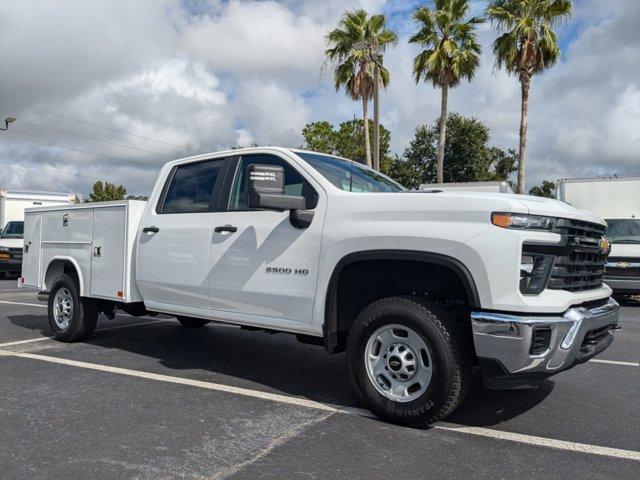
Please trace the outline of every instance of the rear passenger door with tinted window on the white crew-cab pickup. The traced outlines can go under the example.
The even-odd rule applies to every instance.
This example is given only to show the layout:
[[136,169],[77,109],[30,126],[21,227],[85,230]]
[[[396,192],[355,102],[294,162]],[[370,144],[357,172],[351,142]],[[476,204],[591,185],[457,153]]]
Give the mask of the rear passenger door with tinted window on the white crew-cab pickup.
[[226,159],[174,167],[138,238],[137,279],[145,302],[209,309],[211,223]]

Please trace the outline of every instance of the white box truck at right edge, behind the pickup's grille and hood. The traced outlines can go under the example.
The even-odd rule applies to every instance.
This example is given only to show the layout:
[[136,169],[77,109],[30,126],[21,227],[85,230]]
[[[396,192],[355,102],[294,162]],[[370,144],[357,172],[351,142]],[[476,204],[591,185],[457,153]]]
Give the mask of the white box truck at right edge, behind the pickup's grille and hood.
[[616,294],[640,294],[640,177],[559,180],[557,197],[607,221],[604,281]]

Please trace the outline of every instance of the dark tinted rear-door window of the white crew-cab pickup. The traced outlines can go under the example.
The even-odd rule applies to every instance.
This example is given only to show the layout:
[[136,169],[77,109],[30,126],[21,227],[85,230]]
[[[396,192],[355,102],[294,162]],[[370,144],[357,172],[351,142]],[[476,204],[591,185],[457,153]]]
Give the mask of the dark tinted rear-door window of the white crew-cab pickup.
[[167,189],[161,213],[210,211],[213,188],[222,165],[222,160],[212,160],[177,167]]

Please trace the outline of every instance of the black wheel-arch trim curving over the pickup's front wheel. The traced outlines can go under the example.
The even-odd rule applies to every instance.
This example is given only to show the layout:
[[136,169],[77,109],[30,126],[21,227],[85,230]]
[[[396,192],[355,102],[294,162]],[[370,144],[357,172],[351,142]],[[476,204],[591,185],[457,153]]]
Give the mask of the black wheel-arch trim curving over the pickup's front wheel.
[[336,264],[329,279],[325,298],[324,323],[322,333],[324,347],[329,353],[334,353],[338,347],[338,280],[342,270],[352,263],[366,260],[410,260],[421,263],[431,263],[452,270],[462,283],[469,306],[480,308],[480,296],[475,281],[469,269],[459,260],[439,253],[421,252],[415,250],[365,250],[345,255]]

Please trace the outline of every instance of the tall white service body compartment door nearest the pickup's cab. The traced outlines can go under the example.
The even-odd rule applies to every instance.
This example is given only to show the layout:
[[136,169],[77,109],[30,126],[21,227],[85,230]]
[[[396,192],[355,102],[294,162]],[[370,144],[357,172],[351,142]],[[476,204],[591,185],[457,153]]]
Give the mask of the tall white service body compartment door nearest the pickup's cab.
[[101,207],[93,212],[91,295],[122,298],[127,243],[126,208]]

